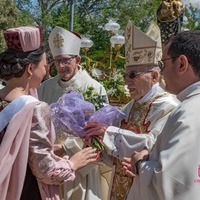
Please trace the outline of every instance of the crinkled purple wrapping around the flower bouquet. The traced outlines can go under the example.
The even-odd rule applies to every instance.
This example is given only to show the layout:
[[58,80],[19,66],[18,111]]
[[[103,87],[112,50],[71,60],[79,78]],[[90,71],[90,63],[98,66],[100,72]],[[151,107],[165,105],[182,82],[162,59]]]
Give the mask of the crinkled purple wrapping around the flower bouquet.
[[85,101],[83,95],[69,91],[56,103],[50,105],[52,121],[56,132],[66,132],[74,136],[84,136],[84,126],[89,121],[97,121],[107,125],[124,114],[116,107],[107,105],[95,112],[92,103]]

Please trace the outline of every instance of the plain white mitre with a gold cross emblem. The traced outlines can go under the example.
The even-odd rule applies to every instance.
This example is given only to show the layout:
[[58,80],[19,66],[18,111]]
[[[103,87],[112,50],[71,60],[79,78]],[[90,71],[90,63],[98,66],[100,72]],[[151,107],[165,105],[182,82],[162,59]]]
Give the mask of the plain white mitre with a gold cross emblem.
[[81,37],[77,33],[56,26],[49,35],[49,47],[54,57],[64,54],[79,55]]

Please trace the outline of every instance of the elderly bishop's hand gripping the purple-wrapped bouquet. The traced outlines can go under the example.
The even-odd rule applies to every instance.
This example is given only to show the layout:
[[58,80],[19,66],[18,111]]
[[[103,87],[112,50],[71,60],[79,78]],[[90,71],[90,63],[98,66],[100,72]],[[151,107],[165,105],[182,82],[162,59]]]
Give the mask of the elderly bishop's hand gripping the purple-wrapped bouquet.
[[107,125],[96,122],[96,121],[92,121],[92,122],[88,122],[85,126],[85,135],[86,138],[91,137],[91,136],[103,136],[106,129],[108,128]]

